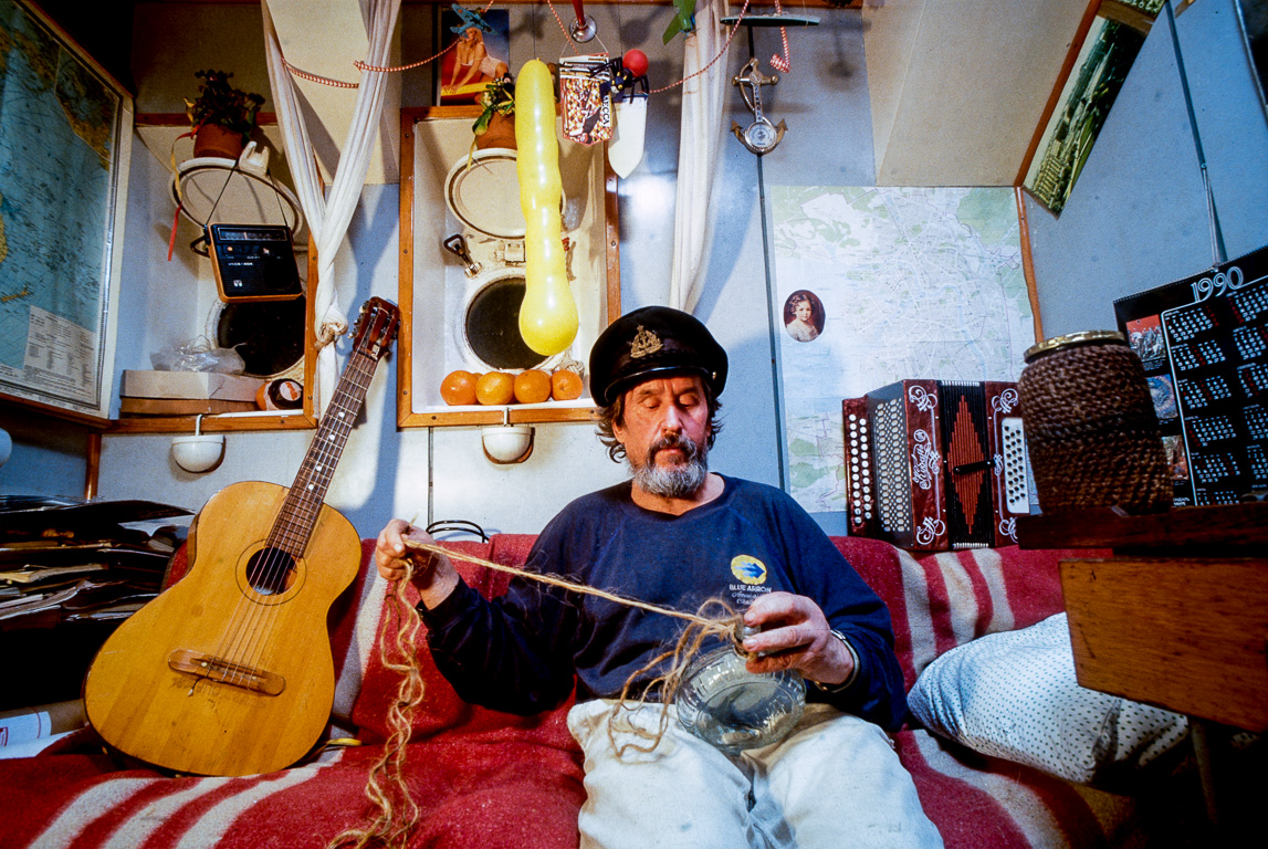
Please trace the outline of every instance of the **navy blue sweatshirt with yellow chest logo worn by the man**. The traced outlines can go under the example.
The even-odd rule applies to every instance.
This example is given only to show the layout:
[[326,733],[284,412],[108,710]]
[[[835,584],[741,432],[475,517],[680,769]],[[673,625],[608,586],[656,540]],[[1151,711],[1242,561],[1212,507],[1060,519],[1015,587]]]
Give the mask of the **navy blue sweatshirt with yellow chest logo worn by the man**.
[[[896,729],[907,703],[884,602],[782,490],[723,482],[720,497],[682,516],[637,506],[630,483],[583,495],[539,535],[525,568],[685,612],[709,598],[742,611],[773,590],[808,596],[860,660],[843,693],[812,687],[808,698]],[[522,578],[492,602],[460,583],[421,612],[436,665],[459,696],[524,715],[557,707],[574,683],[577,701],[616,697],[686,625]]]

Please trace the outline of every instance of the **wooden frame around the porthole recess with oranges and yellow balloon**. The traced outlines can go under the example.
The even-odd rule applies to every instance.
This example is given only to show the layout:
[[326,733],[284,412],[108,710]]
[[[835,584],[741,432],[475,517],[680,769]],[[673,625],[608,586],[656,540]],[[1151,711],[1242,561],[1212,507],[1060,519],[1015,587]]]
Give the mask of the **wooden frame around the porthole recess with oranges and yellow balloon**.
[[[422,304],[415,298],[415,195],[420,190],[415,174],[416,131],[418,122],[462,118],[474,120],[478,106],[431,106],[401,110],[401,247],[399,247],[399,305],[401,333],[397,340],[397,424],[398,427],[483,426],[534,422],[585,422],[593,418],[595,408],[578,402],[545,402],[541,404],[511,404],[445,409],[441,405],[415,407],[418,390],[415,375],[415,324]],[[601,316],[606,327],[621,313],[620,309],[620,237],[616,199],[618,177],[604,157],[604,222],[602,238],[606,255],[606,285],[602,291],[605,310]],[[434,322],[437,319],[432,319]],[[601,329],[601,328],[600,328]],[[443,332],[443,331],[441,331]],[[439,380],[437,380],[439,385]]]

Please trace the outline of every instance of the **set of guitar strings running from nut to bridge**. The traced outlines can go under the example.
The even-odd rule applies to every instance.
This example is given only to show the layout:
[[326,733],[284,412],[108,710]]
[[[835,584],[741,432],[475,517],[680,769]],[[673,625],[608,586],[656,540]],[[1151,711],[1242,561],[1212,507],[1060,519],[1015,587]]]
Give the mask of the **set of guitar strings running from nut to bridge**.
[[[346,384],[354,384],[361,390],[364,398],[364,390],[369,386],[369,380],[373,378],[373,366],[378,361],[372,357],[368,374],[363,375],[366,371],[366,362],[361,351],[354,351],[350,359],[351,362],[345,371],[347,380],[341,384],[341,388]],[[311,498],[308,493],[314,492],[313,473],[316,466],[320,465],[323,473],[321,478],[325,478],[325,480],[318,479],[318,483],[322,492],[325,492],[325,488],[328,487],[333,465],[330,460],[332,456],[337,456],[335,451],[330,450],[330,444],[335,441],[331,437],[339,437],[337,444],[341,450],[351,430],[351,419],[355,418],[351,414],[353,409],[344,407],[346,400],[349,400],[347,395],[350,393],[346,390],[341,392],[341,388],[336,388],[336,393],[331,399],[331,407],[335,409],[327,412],[327,427],[323,427],[318,432],[317,438],[309,446],[301,475],[283,501],[279,514],[274,520],[269,536],[265,540],[265,545],[257,552],[257,555],[261,555],[260,560],[256,561],[255,568],[250,565],[247,568],[247,587],[238,596],[236,610],[230,617],[226,631],[222,634],[221,645],[217,651],[217,656],[223,659],[224,663],[218,677],[221,683],[242,686],[250,677],[250,670],[260,670],[260,659],[268,648],[268,637],[274,630],[273,625],[279,616],[279,604],[285,602],[278,602],[268,597],[264,602],[252,598],[251,593],[255,592],[255,587],[252,587],[251,578],[254,574],[256,585],[279,588],[280,592],[275,593],[276,596],[284,596],[288,590],[283,583],[285,571],[293,560],[298,560],[298,556],[302,556],[303,549],[307,546],[304,535],[293,530],[295,523],[294,514],[303,508],[312,513],[308,522],[309,527],[316,523],[322,499],[317,499],[316,507],[311,503],[304,504],[304,501]],[[356,399],[351,400],[355,402],[355,408],[359,409],[361,402]],[[342,432],[339,432],[341,428]],[[298,493],[295,492],[297,489],[299,490]],[[309,530],[309,536],[311,532]],[[292,550],[295,555],[290,554]],[[245,612],[243,606],[246,606]]]

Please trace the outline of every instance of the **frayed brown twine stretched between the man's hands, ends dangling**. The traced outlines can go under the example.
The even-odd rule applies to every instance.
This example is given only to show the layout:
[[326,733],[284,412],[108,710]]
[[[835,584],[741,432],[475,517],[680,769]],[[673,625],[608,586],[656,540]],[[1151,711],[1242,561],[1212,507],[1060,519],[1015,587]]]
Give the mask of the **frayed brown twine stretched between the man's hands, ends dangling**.
[[[708,639],[724,637],[732,640],[737,645],[737,650],[743,651],[738,642],[738,626],[742,618],[727,602],[720,599],[710,599],[701,604],[700,610],[695,613],[685,613],[670,607],[649,604],[637,598],[619,596],[605,589],[587,587],[586,584],[567,580],[558,575],[545,575],[472,555],[456,554],[431,542],[418,542],[406,539],[404,544],[410,549],[404,558],[406,570],[399,579],[392,582],[388,590],[389,613],[383,617],[379,639],[379,656],[383,667],[399,673],[401,684],[397,691],[397,698],[388,713],[388,725],[392,732],[383,744],[383,754],[370,769],[370,778],[365,787],[365,796],[370,800],[377,812],[365,826],[349,829],[336,836],[327,849],[347,845],[351,845],[353,849],[364,849],[372,845],[384,846],[385,849],[404,849],[410,840],[410,834],[418,822],[418,805],[411,798],[404,781],[404,754],[406,744],[410,743],[413,711],[422,703],[424,694],[422,674],[418,669],[413,648],[415,637],[418,634],[422,620],[418,616],[418,611],[406,601],[404,588],[410,585],[416,561],[421,560],[421,552],[425,552],[429,559],[439,555],[464,560],[484,566],[486,569],[492,569],[493,571],[505,571],[560,589],[586,596],[597,596],[618,604],[637,607],[652,613],[661,613],[662,616],[687,621],[687,627],[678,636],[673,649],[662,651],[652,658],[642,669],[633,673],[621,687],[616,706],[607,718],[607,739],[611,741],[612,750],[618,758],[623,758],[630,749],[647,753],[659,745],[661,739],[670,727],[670,705],[682,686],[687,667],[700,654]],[[389,639],[389,631],[393,627],[396,634]],[[389,656],[389,651],[394,656]],[[666,661],[668,661],[667,672],[642,686],[634,683],[647,673],[666,664]],[[639,703],[650,698],[659,698],[661,701],[661,716],[654,732],[638,727],[629,718],[629,713]],[[618,744],[618,734],[630,734],[637,737],[637,741]]]

